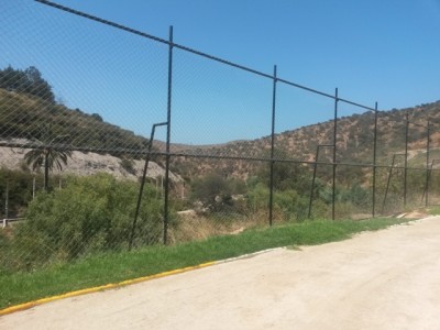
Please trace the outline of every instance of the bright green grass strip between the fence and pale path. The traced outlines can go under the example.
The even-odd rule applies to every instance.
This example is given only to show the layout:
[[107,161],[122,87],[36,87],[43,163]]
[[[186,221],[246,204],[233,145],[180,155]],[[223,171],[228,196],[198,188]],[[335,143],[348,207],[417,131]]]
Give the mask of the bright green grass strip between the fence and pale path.
[[47,296],[158,274],[265,249],[340,241],[361,231],[380,230],[406,221],[396,219],[307,221],[264,230],[249,230],[239,235],[215,237],[173,246],[102,253],[75,263],[52,265],[31,273],[1,275],[0,309]]

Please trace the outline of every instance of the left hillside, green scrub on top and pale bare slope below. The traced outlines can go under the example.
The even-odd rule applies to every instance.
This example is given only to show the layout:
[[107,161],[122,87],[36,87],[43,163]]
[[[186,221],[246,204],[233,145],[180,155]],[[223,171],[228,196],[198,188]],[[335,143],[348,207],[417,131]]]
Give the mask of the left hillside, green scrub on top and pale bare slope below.
[[[24,154],[44,139],[46,127],[51,135],[63,136],[63,144],[75,150],[65,173],[91,175],[107,172],[116,177],[136,180],[142,176],[141,152],[148,140],[105,122],[97,113],[46,101],[37,96],[0,88],[0,167],[23,167]],[[55,170],[57,172],[57,170]],[[148,166],[150,177],[164,176],[155,162]],[[170,175],[172,180],[180,178]]]

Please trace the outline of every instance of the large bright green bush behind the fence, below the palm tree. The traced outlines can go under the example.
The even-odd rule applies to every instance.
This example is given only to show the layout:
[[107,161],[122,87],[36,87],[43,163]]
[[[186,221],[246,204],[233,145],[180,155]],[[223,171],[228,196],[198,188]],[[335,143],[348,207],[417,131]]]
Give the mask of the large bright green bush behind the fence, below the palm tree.
[[[11,246],[0,266],[31,270],[98,251],[127,249],[138,194],[139,185],[107,174],[70,177],[66,188],[38,194],[29,206],[26,221],[16,224],[10,238],[0,239],[0,244]],[[156,195],[146,185],[135,245],[162,239],[162,204]]]

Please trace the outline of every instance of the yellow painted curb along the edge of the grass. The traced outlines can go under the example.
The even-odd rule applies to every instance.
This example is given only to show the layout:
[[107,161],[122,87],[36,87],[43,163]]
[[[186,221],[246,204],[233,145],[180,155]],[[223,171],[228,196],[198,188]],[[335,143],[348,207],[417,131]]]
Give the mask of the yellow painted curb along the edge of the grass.
[[86,295],[86,294],[98,293],[101,290],[107,290],[107,289],[112,289],[112,288],[118,288],[118,287],[122,287],[122,286],[127,286],[127,285],[131,285],[131,284],[135,284],[135,283],[146,282],[146,280],[154,279],[154,278],[161,278],[161,277],[165,277],[165,276],[169,276],[169,275],[185,273],[188,271],[205,268],[205,267],[212,266],[215,264],[217,264],[217,262],[209,262],[209,263],[200,264],[197,266],[190,266],[190,267],[168,271],[168,272],[164,272],[164,273],[160,273],[160,274],[155,274],[155,275],[143,276],[143,277],[138,277],[138,278],[133,278],[133,279],[127,279],[127,280],[119,282],[119,283],[110,283],[110,284],[106,284],[106,285],[101,285],[101,286],[96,286],[96,287],[91,287],[91,288],[86,288],[86,289],[80,289],[80,290],[58,295],[58,296],[42,298],[42,299],[37,299],[37,300],[24,302],[24,304],[11,306],[11,307],[4,308],[4,309],[0,309],[0,316],[12,314],[12,312],[20,311],[20,310],[25,310],[25,309],[29,309],[29,308],[32,308],[34,306],[38,306],[38,305],[42,305],[45,302],[51,302],[51,301],[61,300],[61,299],[69,298],[69,297],[76,297],[76,296]]

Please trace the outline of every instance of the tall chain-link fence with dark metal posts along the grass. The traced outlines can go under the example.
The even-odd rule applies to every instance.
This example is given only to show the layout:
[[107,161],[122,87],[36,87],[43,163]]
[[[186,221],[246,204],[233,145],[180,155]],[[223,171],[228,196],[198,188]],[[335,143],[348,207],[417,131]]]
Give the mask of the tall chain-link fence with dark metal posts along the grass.
[[437,202],[438,103],[382,112],[172,29],[2,7],[1,271]]

